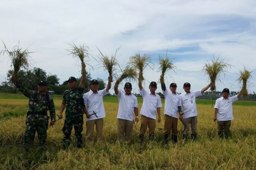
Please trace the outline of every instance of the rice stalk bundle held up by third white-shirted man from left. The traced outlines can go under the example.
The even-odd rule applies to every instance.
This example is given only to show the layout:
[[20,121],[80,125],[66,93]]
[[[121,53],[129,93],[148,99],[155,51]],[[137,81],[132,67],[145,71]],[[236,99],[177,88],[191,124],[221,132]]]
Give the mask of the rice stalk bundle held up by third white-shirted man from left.
[[[143,70],[149,66],[151,67],[153,64],[151,62],[151,57],[147,54],[144,54],[143,56],[140,56],[140,54],[136,54],[134,56],[130,57],[129,64],[134,68],[139,70],[139,81],[143,81]],[[153,69],[151,67],[151,69]]]

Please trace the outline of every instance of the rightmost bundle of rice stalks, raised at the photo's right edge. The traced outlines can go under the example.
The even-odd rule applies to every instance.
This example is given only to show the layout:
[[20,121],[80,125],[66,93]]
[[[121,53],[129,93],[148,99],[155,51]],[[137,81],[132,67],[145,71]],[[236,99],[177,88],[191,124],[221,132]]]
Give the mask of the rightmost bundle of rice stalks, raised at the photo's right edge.
[[240,77],[238,78],[238,82],[242,85],[241,95],[243,97],[247,97],[248,96],[247,84],[248,84],[248,82],[250,82],[250,79],[252,78],[251,73],[253,71],[254,70],[247,70],[245,67],[244,67],[243,70],[239,71]]

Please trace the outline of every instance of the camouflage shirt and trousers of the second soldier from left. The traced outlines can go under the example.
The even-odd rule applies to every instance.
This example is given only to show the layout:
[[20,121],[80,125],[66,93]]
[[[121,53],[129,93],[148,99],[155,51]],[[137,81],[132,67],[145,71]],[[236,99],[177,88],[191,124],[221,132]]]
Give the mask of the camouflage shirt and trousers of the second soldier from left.
[[71,131],[74,125],[75,129],[75,139],[76,146],[82,146],[82,131],[83,131],[83,109],[84,109],[84,101],[83,101],[83,91],[84,88],[74,88],[69,89],[64,92],[63,102],[66,102],[66,118],[65,123],[62,128],[64,137],[63,144],[65,147],[70,145],[71,139]]

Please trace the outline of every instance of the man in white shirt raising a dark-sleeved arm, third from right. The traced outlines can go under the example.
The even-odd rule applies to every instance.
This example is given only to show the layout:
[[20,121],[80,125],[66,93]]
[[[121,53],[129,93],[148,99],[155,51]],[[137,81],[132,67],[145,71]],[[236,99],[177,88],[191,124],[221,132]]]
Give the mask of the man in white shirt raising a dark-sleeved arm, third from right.
[[163,74],[160,75],[161,88],[163,95],[165,96],[165,126],[163,128],[164,133],[164,142],[163,144],[168,143],[169,135],[172,131],[172,141],[177,143],[177,126],[178,126],[178,111],[182,114],[181,111],[181,100],[180,96],[176,93],[177,85],[176,83],[170,84],[170,90],[166,88]]

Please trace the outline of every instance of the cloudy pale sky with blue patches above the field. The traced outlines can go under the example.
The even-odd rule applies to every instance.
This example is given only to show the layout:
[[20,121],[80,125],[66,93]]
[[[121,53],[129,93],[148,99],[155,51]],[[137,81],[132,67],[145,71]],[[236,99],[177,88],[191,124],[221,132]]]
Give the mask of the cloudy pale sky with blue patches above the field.
[[[239,91],[239,70],[256,68],[255,0],[2,0],[0,21],[0,38],[6,46],[12,49],[20,41],[20,47],[36,51],[31,54],[33,66],[57,74],[60,83],[80,76],[81,68],[67,55],[68,43],[87,45],[95,58],[96,46],[107,55],[121,46],[117,55],[123,67],[136,53],[150,55],[156,65],[154,71],[144,72],[146,89],[148,82],[159,80],[158,57],[167,49],[177,69],[169,72],[165,82],[177,83],[178,92],[183,92],[185,82],[191,90],[209,84],[202,68],[213,56],[232,65],[228,77],[217,83],[218,91],[225,87]],[[11,63],[3,55],[0,62],[2,82]],[[89,62],[94,70],[86,69],[93,79],[108,78],[93,57]],[[256,92],[256,71],[252,76],[248,89]],[[137,82],[132,84],[138,93]]]

